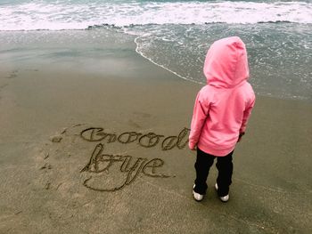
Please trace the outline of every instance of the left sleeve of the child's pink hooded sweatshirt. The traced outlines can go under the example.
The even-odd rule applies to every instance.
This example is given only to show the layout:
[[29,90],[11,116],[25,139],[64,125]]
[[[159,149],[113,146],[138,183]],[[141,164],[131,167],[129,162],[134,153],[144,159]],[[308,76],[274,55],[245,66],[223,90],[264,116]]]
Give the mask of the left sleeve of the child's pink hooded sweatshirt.
[[194,149],[201,136],[201,128],[204,125],[209,113],[208,101],[203,101],[201,92],[197,94],[193,108],[193,117],[191,123],[191,132],[189,135],[189,148]]

